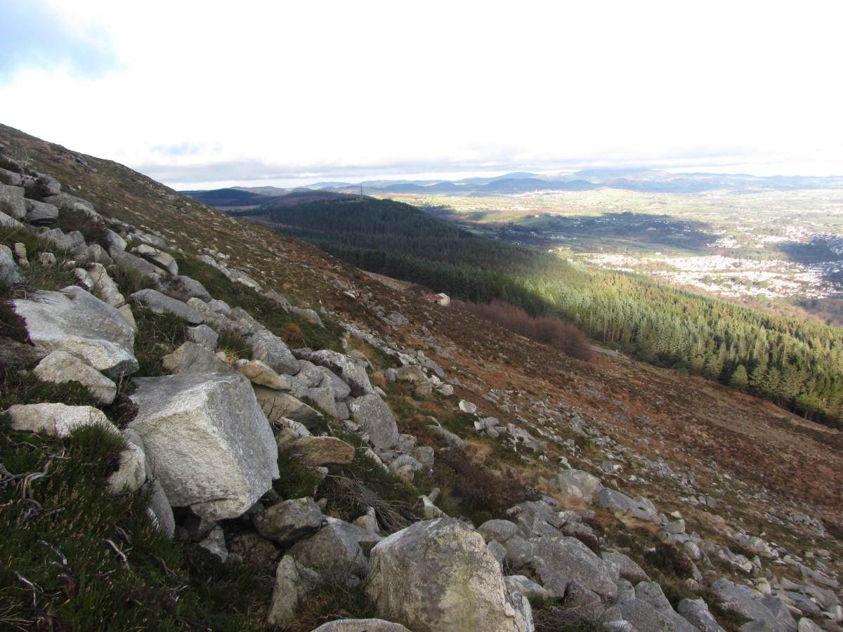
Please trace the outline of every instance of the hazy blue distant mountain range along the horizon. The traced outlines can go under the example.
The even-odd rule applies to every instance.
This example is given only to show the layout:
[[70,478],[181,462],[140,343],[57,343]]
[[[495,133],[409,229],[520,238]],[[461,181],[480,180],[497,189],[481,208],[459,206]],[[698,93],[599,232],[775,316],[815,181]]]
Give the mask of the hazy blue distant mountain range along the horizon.
[[583,191],[602,187],[650,193],[701,193],[708,190],[759,191],[800,189],[843,189],[843,176],[756,176],[749,174],[672,174],[659,169],[583,169],[577,172],[531,174],[518,171],[490,178],[459,180],[366,180],[316,182],[296,189],[274,186],[232,187],[217,190],[181,191],[197,201],[217,208],[246,208],[266,204],[293,192],[319,190],[350,195],[455,194],[495,195],[530,191]]

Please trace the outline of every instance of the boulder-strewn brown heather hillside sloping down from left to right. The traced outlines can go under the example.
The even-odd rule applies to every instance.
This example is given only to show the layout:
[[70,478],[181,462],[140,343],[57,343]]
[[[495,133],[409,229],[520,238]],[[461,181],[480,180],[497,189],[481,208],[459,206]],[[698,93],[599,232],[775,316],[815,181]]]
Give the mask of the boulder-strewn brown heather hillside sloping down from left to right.
[[[263,454],[250,478],[260,485],[250,482],[234,507],[177,496],[163,474],[140,474],[138,492],[123,488],[109,502],[105,481],[125,442],[85,429],[50,438],[4,419],[0,517],[13,536],[0,543],[6,627],[340,629],[329,622],[377,616],[407,629],[840,629],[839,431],[625,356],[565,356],[119,164],[5,126],[0,144],[6,167],[31,177],[19,198],[27,195],[19,219],[30,225],[0,217],[3,408],[94,405],[121,430],[153,437],[152,454],[155,434],[138,420],[153,384],[231,381],[284,402],[282,415],[275,404],[250,412],[254,433],[234,433],[233,441],[267,427],[273,435],[239,461],[255,469]],[[15,173],[0,172],[4,185]],[[56,185],[81,201],[56,199]],[[18,199],[9,188],[7,211]],[[80,204],[103,219],[85,219],[93,216]],[[108,263],[105,228],[154,267],[121,255],[114,238]],[[47,253],[81,272],[51,265]],[[126,351],[133,372],[95,370],[126,375],[117,379],[121,410],[73,382],[42,386],[35,366],[45,343],[23,344],[13,315],[39,307],[32,298],[45,295],[33,292],[92,279],[97,257],[137,323]],[[153,289],[173,309],[199,310],[203,324],[190,312],[155,313]],[[63,295],[88,300],[78,289]],[[104,312],[110,322],[126,322],[116,309]],[[192,347],[182,344],[199,327],[216,330],[209,351],[225,360],[194,350],[206,364],[191,373]],[[220,418],[237,416],[232,406],[247,416],[248,388]],[[185,392],[164,399],[186,401]],[[362,413],[364,404],[378,414]],[[319,457],[314,444],[323,444]],[[89,483],[70,494],[67,485],[81,483],[65,479]],[[158,530],[142,511],[158,487],[182,498],[170,499],[172,539],[160,528],[169,503],[158,503]],[[282,519],[294,506],[296,528]]]

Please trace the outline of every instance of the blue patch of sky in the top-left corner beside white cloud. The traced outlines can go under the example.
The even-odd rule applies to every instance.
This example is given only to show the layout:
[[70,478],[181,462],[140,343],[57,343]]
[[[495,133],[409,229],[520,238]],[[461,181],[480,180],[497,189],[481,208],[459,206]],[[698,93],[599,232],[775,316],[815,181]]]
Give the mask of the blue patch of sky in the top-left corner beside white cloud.
[[110,36],[97,26],[73,26],[36,0],[3,3],[0,86],[27,70],[65,70],[95,79],[121,67]]

